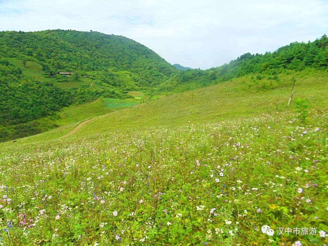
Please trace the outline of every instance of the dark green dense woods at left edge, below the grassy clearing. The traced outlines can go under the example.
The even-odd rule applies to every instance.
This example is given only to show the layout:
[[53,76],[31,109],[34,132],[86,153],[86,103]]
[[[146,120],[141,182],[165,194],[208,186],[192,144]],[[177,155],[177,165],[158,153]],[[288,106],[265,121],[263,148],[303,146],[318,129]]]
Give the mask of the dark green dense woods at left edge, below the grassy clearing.
[[22,71],[0,60],[0,118],[2,125],[18,124],[58,111],[72,103],[72,93],[51,84],[22,81]]

